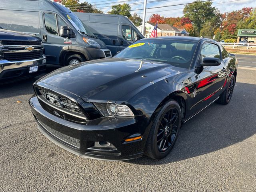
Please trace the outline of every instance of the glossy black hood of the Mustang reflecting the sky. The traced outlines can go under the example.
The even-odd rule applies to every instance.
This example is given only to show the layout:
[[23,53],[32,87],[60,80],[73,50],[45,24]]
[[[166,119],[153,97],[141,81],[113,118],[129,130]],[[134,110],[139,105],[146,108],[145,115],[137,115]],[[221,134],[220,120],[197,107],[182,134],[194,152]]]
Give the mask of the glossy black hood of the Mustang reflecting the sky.
[[182,68],[159,62],[106,58],[60,68],[39,81],[76,94],[84,101],[116,101],[179,70]]

